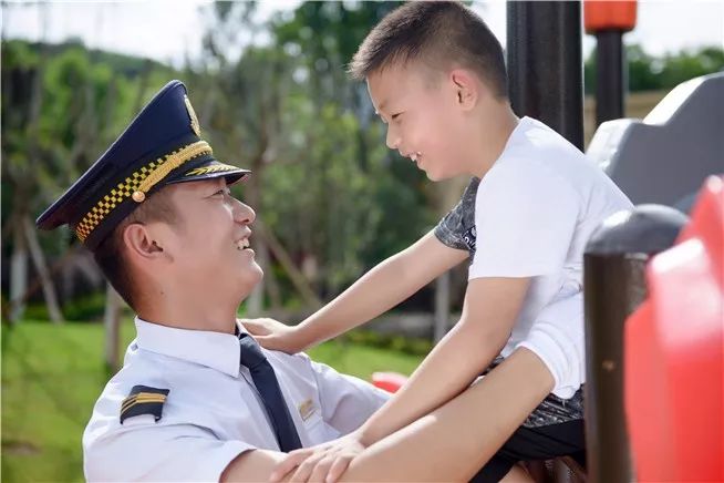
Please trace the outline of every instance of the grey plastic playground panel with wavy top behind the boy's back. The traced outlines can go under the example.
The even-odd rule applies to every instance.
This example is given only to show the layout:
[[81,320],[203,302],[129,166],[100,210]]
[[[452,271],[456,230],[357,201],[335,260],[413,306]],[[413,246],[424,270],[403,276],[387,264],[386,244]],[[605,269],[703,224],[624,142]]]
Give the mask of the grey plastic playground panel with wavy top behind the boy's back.
[[602,123],[587,155],[634,205],[689,213],[706,176],[724,174],[724,72],[678,85],[643,121]]

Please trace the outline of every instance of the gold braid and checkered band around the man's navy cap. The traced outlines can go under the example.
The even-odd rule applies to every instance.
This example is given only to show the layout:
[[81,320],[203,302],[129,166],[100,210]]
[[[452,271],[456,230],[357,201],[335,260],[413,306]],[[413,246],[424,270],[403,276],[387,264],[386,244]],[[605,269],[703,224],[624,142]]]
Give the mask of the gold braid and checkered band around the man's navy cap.
[[143,203],[148,193],[158,182],[168,176],[168,173],[182,164],[204,154],[213,154],[211,146],[206,141],[197,141],[194,144],[184,146],[178,151],[167,154],[163,158],[152,161],[147,165],[135,171],[126,177],[123,183],[118,183],[111,193],[103,196],[83,219],[75,227],[75,235],[81,242],[91,235],[91,233],[103,222],[103,219],[117,205],[131,197],[136,203]]

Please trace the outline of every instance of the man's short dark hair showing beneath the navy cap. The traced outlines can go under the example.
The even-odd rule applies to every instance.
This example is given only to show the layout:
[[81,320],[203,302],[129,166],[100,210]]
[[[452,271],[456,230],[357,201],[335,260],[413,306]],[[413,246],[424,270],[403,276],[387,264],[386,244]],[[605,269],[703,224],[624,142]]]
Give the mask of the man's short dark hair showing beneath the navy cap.
[[141,292],[136,278],[126,261],[123,230],[132,223],[166,222],[178,223],[178,215],[168,197],[169,191],[162,188],[121,222],[93,250],[93,258],[118,295],[137,311]]

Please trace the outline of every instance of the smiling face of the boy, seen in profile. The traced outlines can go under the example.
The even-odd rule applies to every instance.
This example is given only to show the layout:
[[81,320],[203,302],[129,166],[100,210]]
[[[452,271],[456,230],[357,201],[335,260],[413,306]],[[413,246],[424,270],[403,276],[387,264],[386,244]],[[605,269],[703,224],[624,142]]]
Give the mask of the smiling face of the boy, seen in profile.
[[386,144],[432,181],[465,172],[463,112],[442,72],[414,62],[393,64],[368,76],[374,109],[387,124]]

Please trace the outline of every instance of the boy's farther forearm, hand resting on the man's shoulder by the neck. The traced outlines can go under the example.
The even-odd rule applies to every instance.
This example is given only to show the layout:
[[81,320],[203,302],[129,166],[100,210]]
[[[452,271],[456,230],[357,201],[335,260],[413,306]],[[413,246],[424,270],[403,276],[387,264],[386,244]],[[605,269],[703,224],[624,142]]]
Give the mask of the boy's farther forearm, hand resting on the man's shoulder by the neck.
[[430,232],[368,271],[297,327],[254,320],[244,325],[267,349],[298,352],[377,317],[466,258],[467,251],[444,245]]

